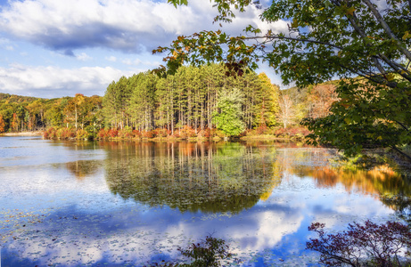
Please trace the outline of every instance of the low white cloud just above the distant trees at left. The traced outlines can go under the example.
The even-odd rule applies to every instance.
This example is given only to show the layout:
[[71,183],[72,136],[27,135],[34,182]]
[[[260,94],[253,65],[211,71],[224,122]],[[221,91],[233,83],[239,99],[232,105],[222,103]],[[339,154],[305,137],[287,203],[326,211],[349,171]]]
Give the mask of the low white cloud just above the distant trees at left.
[[[134,71],[122,71],[111,67],[83,67],[61,69],[52,66],[30,67],[19,64],[0,68],[0,92],[22,95],[39,95],[42,92],[53,97],[84,93],[103,95],[107,86],[121,76],[131,76]],[[42,93],[43,97],[45,96]]]

